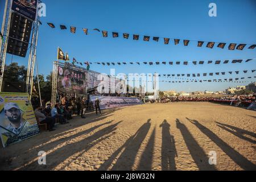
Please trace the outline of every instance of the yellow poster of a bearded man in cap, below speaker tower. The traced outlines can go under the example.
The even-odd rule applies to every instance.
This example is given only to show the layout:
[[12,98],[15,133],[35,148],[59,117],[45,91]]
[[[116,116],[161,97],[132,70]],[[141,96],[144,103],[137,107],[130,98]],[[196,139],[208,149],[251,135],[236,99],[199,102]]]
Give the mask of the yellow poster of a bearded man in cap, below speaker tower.
[[28,93],[0,93],[0,135],[3,147],[39,133]]

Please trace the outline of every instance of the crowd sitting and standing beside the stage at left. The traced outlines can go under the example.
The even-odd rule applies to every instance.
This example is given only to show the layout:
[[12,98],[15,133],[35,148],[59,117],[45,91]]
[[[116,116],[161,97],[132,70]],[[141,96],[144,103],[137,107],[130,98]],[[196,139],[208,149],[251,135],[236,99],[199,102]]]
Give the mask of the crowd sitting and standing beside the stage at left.
[[52,106],[51,102],[47,102],[42,106],[39,100],[32,99],[32,105],[35,110],[35,117],[40,124],[47,123],[47,130],[54,131],[56,121],[61,125],[65,125],[68,120],[72,119],[72,115],[78,115],[81,118],[85,118],[86,110],[96,110],[96,114],[101,114],[100,100],[97,98],[93,103],[89,99],[89,95],[86,97],[68,97],[60,96],[59,103]]

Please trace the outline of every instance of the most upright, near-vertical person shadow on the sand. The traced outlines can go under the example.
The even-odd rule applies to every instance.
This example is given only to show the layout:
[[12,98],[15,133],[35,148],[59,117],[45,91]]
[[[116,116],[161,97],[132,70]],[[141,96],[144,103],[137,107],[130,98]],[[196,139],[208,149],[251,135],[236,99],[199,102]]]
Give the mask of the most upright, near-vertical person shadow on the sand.
[[174,136],[170,134],[171,125],[164,119],[159,127],[162,127],[162,170],[174,171],[176,170],[175,157],[177,151]]

